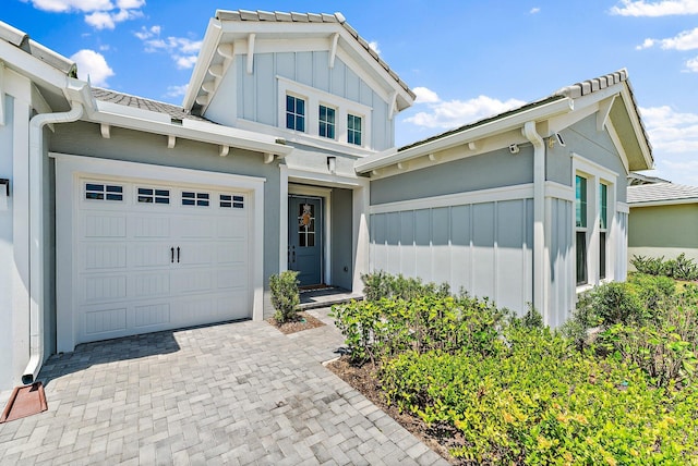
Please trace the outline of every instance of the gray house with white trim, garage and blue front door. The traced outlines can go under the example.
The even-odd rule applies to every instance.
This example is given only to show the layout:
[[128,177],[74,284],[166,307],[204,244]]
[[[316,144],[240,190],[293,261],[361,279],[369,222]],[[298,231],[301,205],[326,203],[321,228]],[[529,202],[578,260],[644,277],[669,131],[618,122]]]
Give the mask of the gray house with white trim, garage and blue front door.
[[395,148],[414,94],[341,14],[217,11],[183,107],[0,23],[0,390],[76,344],[272,314],[267,279],[449,281],[552,326],[626,274],[652,164],[619,71]]

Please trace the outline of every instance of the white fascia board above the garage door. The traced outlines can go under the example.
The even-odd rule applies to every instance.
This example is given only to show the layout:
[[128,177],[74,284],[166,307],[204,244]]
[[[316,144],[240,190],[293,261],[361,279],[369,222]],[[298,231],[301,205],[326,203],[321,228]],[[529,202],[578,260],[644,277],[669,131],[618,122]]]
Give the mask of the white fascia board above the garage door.
[[[101,103],[104,102],[99,102],[100,106]],[[128,107],[124,106],[119,107],[128,109]],[[159,113],[156,114],[160,115]],[[196,122],[196,124],[191,127],[189,122],[186,122],[186,125],[182,122],[182,125],[180,126],[171,124],[169,119],[166,120],[167,121],[164,121],[160,118],[156,120],[148,120],[142,116],[133,116],[129,114],[129,112],[119,113],[107,111],[105,109],[99,109],[89,115],[89,121],[95,123],[107,123],[146,133],[226,145],[263,154],[274,154],[279,157],[286,157],[293,150],[292,147],[274,143],[272,138],[268,138],[269,140],[263,140],[258,136],[252,137],[255,136],[253,133],[240,134],[242,132],[234,131],[226,126],[218,126],[213,123]]]

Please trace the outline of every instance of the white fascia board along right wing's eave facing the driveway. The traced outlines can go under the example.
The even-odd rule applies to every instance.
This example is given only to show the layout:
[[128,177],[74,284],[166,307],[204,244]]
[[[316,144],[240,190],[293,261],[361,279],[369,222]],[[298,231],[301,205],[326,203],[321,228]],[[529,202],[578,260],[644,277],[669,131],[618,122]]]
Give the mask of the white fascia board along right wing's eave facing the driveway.
[[489,137],[497,133],[503,133],[516,128],[517,126],[524,125],[524,123],[528,121],[546,120],[562,113],[570,112],[574,110],[574,100],[570,98],[555,100],[553,102],[544,103],[540,107],[535,107],[520,113],[515,113],[501,120],[495,120],[490,123],[462,131],[460,133],[452,134],[449,136],[432,140],[431,143],[425,143],[420,146],[412,147],[401,152],[395,152],[393,155],[380,154],[376,156],[368,157],[357,162],[354,164],[354,170],[358,173],[366,173],[372,170],[377,170],[398,162],[406,162],[418,157],[423,157],[429,154],[449,149],[452,147],[456,147],[476,139],[481,139],[483,137]]

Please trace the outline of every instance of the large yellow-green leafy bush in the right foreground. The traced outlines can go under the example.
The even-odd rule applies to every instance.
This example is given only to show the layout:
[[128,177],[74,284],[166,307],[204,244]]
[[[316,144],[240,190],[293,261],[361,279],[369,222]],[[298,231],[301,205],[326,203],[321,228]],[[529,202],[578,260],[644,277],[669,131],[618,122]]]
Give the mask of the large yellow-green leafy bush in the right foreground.
[[698,455],[694,388],[653,389],[643,372],[569,347],[562,335],[505,330],[510,346],[408,352],[381,378],[389,403],[450,426],[467,464],[681,464]]

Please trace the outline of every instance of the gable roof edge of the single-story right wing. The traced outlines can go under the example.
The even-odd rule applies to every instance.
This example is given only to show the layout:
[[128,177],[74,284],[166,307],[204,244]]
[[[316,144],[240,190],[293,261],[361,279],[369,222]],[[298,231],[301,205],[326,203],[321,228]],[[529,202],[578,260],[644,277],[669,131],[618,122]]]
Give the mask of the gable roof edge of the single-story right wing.
[[[617,122],[619,125],[617,133],[629,136],[622,138],[622,142],[625,143],[622,150],[626,155],[633,155],[629,169],[649,169],[653,163],[652,148],[625,69],[563,87],[540,100],[402,146],[396,152],[383,152],[368,157],[358,161],[356,169],[359,173],[366,173],[390,164],[406,162],[425,154],[473,143],[478,138],[520,127],[525,121],[541,122],[557,114],[569,113],[575,110],[575,101],[577,100],[607,99],[614,96],[613,93],[616,93],[615,96],[619,96],[619,98],[614,97],[609,114],[614,120],[614,124]],[[635,136],[633,136],[634,134]]]

